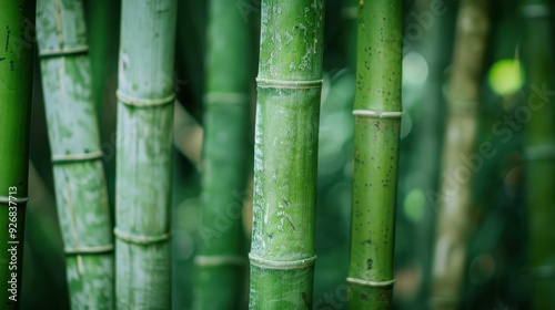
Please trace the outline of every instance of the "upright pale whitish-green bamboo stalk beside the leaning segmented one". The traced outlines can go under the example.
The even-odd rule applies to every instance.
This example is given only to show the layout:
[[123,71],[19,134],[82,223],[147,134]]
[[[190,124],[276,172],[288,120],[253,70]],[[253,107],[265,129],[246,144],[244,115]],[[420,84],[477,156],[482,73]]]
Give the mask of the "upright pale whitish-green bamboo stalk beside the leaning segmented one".
[[118,309],[171,304],[175,0],[123,0],[118,89]]

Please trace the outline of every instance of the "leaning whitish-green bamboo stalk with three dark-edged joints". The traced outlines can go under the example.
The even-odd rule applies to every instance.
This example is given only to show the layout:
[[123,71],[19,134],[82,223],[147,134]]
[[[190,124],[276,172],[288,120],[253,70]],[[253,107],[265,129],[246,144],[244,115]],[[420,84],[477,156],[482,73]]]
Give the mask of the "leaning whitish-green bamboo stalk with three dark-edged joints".
[[113,309],[113,244],[80,0],[39,0],[37,35],[73,309]]

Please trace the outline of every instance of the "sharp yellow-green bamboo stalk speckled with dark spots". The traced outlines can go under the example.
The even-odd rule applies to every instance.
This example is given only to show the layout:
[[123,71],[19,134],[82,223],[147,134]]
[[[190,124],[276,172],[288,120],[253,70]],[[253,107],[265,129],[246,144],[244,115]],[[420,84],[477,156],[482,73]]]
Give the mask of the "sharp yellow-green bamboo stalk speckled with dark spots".
[[401,127],[400,0],[359,3],[350,309],[390,309]]

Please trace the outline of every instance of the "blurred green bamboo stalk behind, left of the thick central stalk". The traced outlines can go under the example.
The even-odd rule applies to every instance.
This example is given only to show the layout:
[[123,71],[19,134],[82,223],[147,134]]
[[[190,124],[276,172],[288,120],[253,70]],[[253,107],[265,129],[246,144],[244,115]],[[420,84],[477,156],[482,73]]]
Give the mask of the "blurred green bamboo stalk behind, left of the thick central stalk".
[[246,267],[241,214],[252,162],[252,80],[248,70],[250,29],[235,2],[209,2],[195,309],[239,309],[244,291],[240,285]]

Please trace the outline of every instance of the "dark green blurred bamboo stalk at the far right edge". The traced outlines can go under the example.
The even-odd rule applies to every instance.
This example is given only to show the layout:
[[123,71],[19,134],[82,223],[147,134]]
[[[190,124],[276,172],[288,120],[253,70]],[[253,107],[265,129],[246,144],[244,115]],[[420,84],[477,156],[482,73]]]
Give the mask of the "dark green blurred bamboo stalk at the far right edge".
[[[525,66],[527,76],[527,107],[532,113],[525,127],[526,193],[529,213],[528,270],[532,280],[532,309],[555,309],[555,221],[553,192],[555,190],[555,107],[553,92],[538,94],[536,90],[553,90],[553,14],[548,1],[522,0],[524,17]],[[543,96],[549,95],[545,99]],[[541,104],[542,108],[537,108]],[[542,154],[552,154],[543,156]]]

